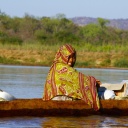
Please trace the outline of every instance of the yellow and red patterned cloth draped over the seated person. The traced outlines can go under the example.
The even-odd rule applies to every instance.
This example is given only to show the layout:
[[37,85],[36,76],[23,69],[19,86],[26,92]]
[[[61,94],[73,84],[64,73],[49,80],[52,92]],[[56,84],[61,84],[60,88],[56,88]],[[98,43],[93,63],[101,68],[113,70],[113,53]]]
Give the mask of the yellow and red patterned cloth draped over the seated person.
[[92,76],[85,76],[68,66],[68,57],[72,53],[75,53],[75,50],[68,44],[58,50],[46,79],[43,100],[65,95],[84,100],[92,108],[98,110],[96,79]]

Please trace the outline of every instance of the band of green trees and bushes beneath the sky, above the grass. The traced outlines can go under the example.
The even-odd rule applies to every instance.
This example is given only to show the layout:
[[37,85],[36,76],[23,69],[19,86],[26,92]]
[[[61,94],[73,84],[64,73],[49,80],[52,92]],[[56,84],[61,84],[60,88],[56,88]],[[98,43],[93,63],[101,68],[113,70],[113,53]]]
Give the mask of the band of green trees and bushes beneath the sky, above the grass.
[[41,43],[54,45],[74,43],[92,45],[128,43],[128,31],[107,26],[109,20],[97,18],[97,23],[78,26],[64,14],[55,17],[10,17],[0,11],[0,43]]

